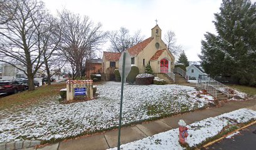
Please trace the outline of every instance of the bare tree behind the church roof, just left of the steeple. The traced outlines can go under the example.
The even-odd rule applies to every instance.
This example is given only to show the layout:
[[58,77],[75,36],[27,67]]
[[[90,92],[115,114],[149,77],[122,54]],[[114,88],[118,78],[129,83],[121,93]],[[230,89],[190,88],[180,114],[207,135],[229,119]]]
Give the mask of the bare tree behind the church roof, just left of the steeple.
[[110,51],[117,53],[122,53],[144,39],[144,36],[141,36],[141,31],[137,31],[131,36],[129,30],[125,27],[120,27],[119,31],[109,32],[108,37],[111,43],[109,47]]

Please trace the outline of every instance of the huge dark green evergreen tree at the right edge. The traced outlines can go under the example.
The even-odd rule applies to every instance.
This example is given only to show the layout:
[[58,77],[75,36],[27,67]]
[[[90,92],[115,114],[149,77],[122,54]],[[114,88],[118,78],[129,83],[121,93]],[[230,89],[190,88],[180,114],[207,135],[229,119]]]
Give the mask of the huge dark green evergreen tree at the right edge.
[[231,76],[256,86],[256,4],[223,0],[215,14],[217,35],[206,32],[201,41],[201,65],[211,76]]

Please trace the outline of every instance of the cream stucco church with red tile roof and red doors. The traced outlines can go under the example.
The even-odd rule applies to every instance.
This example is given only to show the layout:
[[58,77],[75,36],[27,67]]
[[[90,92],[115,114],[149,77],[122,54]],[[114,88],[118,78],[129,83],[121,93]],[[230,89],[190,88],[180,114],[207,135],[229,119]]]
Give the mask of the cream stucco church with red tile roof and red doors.
[[[151,29],[151,37],[125,50],[131,55],[131,62],[139,68],[139,73],[145,73],[147,63],[151,65],[154,74],[169,73],[174,69],[174,56],[162,40],[162,30],[158,25]],[[121,53],[103,53],[102,72],[107,73],[110,67],[119,68]]]

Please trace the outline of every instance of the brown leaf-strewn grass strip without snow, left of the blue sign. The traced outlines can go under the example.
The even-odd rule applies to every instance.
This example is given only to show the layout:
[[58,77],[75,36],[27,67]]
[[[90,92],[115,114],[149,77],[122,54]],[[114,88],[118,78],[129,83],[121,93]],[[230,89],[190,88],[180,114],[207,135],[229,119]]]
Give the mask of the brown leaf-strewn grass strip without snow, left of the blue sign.
[[0,99],[0,110],[13,108],[15,106],[31,106],[44,98],[58,95],[60,89],[65,87],[66,83],[52,84],[50,86],[43,85],[36,88],[34,91],[23,91],[21,93],[6,96]]

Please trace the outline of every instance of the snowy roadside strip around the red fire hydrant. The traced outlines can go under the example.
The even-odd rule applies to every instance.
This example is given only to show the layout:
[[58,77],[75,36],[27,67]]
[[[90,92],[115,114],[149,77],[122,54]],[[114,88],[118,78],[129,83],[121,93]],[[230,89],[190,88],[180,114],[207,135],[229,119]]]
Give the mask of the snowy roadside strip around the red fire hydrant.
[[[256,119],[256,111],[250,109],[238,109],[230,113],[221,114],[215,118],[207,118],[202,121],[187,126],[188,138],[187,143],[190,147],[196,146],[207,138],[211,138],[220,133],[228,125],[237,123],[246,123],[251,119]],[[139,141],[123,144],[121,149],[185,149],[179,144],[179,129],[171,129],[164,133],[155,134]],[[114,150],[112,148],[109,150]]]

